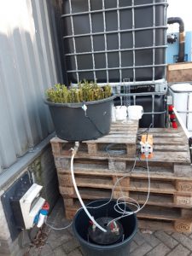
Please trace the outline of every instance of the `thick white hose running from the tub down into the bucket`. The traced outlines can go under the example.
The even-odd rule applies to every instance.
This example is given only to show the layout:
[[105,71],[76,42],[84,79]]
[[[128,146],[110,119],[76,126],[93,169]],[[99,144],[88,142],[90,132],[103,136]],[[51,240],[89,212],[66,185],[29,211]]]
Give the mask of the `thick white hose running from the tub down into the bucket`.
[[71,174],[72,174],[73,186],[74,186],[76,194],[78,195],[80,204],[84,208],[84,212],[86,212],[87,216],[90,218],[92,223],[95,224],[98,229],[102,230],[103,232],[107,232],[107,230],[104,230],[100,224],[97,224],[96,220],[90,215],[90,212],[85,207],[84,202],[83,202],[83,200],[82,200],[82,198],[81,198],[81,196],[79,194],[79,189],[77,187],[77,183],[75,181],[74,171],[73,171],[73,159],[74,159],[74,156],[75,156],[75,151],[73,151],[72,158],[71,158]]

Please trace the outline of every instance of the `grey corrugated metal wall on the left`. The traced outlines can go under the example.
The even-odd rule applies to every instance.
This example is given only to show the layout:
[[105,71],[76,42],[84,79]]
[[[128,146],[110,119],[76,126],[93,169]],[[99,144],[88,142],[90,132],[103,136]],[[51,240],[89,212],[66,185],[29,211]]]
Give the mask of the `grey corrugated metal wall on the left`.
[[0,171],[54,131],[43,96],[62,82],[55,4],[0,1]]

